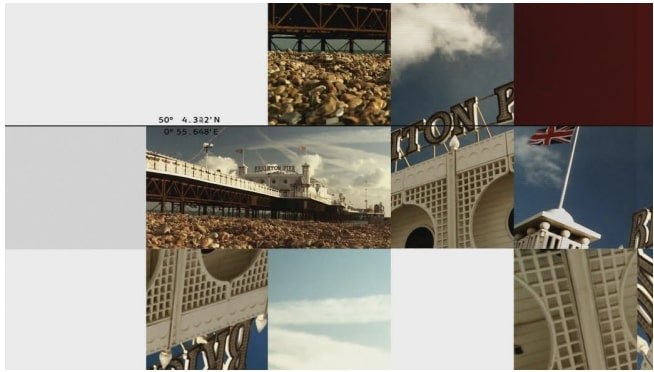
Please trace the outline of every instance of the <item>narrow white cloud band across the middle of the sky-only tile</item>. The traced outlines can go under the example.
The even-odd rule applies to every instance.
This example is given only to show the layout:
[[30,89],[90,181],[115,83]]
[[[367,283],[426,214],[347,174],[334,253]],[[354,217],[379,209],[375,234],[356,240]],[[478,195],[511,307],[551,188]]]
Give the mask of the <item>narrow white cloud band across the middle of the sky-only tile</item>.
[[327,298],[271,302],[269,319],[275,326],[300,324],[353,324],[390,322],[391,297]]

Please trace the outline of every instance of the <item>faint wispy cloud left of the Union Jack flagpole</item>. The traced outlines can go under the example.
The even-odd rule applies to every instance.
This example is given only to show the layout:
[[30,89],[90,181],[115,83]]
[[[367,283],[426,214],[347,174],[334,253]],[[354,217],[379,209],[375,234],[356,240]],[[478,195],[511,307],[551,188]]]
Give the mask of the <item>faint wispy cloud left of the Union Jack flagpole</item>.
[[530,145],[527,137],[515,139],[516,166],[520,177],[534,186],[561,186],[563,163],[561,155],[548,146]]

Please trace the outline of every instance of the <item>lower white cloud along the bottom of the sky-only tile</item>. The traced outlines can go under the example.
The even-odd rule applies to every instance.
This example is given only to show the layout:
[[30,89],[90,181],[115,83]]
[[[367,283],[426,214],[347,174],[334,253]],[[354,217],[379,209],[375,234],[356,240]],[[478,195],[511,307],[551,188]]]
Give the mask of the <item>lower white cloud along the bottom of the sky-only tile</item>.
[[270,327],[270,369],[388,369],[390,352],[348,341]]

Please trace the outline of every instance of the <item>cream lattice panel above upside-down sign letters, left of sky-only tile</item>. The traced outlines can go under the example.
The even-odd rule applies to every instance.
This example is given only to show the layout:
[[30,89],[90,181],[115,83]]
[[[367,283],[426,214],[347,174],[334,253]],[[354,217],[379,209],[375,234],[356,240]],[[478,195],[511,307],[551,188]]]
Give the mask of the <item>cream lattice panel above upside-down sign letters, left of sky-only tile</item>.
[[[229,281],[212,275],[215,267],[212,266],[214,271],[208,270],[199,249],[162,249],[155,255],[155,268],[147,290],[148,353],[252,319],[266,311],[267,251],[257,251],[244,271],[235,272],[237,276],[230,277],[233,279]],[[228,267],[219,269],[220,273],[233,271],[229,258],[228,261],[219,259],[223,264],[229,262]]]

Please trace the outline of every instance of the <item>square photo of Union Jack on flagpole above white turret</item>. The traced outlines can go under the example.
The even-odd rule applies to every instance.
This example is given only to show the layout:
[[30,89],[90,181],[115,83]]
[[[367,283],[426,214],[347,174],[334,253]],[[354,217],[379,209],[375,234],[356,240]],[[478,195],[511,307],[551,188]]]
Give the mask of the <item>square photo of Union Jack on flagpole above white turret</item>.
[[651,246],[651,127],[517,127],[515,138],[516,248]]

